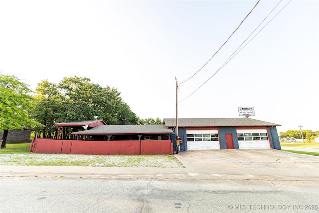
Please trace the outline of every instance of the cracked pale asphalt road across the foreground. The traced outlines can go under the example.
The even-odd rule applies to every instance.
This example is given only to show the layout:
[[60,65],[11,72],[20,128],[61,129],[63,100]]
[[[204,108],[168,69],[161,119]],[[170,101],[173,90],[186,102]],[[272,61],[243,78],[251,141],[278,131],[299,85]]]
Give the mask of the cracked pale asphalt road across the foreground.
[[318,212],[318,182],[7,177],[1,213]]

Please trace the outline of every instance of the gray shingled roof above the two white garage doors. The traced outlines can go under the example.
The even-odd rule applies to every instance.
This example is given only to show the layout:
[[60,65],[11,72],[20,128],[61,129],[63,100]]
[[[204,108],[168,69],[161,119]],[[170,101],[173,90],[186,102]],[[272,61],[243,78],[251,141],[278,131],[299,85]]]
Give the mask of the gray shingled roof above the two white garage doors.
[[[175,118],[165,118],[166,127],[175,127]],[[281,126],[251,118],[178,118],[178,127]]]

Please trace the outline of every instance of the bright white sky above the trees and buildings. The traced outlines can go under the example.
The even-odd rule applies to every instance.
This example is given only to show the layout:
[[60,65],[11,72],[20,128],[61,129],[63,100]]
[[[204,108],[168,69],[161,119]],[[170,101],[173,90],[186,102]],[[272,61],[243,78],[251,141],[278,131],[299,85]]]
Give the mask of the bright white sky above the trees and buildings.
[[141,119],[175,118],[177,96],[178,118],[319,130],[319,0],[257,2],[0,0],[0,71],[90,78]]

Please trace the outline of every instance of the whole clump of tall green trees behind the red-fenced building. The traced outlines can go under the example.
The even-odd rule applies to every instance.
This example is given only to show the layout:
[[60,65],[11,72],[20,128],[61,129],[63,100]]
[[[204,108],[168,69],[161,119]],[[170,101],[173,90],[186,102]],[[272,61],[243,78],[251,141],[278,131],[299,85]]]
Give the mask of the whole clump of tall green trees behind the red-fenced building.
[[[107,124],[121,124],[122,118],[127,119],[127,124],[138,123],[138,117],[117,89],[102,88],[89,78],[63,78],[59,84],[42,81],[36,88],[36,100],[34,117],[45,126],[41,130],[44,138],[56,136],[55,123],[93,120],[95,116]],[[70,132],[63,131],[67,138]]]

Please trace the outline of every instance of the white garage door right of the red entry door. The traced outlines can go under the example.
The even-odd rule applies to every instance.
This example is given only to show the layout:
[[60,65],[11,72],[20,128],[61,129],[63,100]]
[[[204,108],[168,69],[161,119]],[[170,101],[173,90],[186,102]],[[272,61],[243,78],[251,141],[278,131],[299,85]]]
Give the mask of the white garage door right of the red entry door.
[[239,149],[270,149],[266,129],[237,130]]

